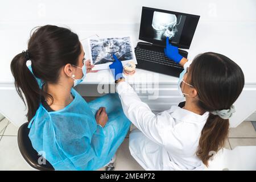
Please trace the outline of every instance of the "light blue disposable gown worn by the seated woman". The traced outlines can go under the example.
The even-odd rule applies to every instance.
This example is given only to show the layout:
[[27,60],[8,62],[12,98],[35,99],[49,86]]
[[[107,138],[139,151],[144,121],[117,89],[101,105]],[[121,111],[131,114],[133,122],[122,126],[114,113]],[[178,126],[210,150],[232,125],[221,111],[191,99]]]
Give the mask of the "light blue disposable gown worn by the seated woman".
[[[87,103],[75,89],[74,100],[64,109],[47,111],[40,104],[31,119],[32,146],[56,170],[96,170],[105,166],[129,131],[117,94],[107,94]],[[97,125],[95,115],[106,107],[109,121]]]

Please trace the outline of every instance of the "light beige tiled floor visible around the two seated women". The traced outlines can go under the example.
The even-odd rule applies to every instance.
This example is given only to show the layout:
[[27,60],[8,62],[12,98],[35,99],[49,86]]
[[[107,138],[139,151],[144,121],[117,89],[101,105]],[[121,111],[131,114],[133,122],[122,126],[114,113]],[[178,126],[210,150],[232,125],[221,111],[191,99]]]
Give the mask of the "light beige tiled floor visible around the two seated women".
[[[3,119],[0,122],[0,170],[34,170],[20,155],[17,143],[18,127]],[[256,146],[256,132],[249,121],[244,121],[230,129],[225,148],[236,146]],[[104,168],[101,168],[103,170]],[[129,152],[129,135],[117,151],[115,170],[143,170]]]

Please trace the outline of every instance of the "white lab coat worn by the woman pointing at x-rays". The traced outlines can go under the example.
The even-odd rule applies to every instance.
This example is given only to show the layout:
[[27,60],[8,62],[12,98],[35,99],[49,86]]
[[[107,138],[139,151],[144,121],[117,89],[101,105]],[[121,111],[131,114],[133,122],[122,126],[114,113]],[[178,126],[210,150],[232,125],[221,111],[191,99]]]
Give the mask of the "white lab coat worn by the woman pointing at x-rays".
[[127,82],[117,84],[127,118],[138,128],[130,134],[131,155],[146,170],[201,170],[196,156],[201,130],[209,112],[203,115],[171,106],[155,115]]

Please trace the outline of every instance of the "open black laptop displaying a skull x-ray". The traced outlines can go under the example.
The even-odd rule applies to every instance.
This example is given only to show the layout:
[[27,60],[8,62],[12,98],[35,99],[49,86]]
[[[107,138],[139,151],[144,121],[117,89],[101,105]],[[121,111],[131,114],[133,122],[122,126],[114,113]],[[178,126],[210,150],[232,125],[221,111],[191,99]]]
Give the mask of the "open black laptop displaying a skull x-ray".
[[181,65],[168,59],[164,54],[166,38],[179,48],[181,56],[187,58],[193,35],[200,16],[142,7],[139,40],[135,47],[137,68],[179,77],[183,71]]

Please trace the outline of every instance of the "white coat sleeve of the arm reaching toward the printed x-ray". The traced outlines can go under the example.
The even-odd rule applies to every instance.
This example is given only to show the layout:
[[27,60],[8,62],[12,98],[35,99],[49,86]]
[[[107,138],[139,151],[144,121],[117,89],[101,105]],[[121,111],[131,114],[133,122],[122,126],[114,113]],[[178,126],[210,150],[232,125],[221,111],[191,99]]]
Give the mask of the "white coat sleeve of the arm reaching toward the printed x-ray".
[[155,143],[163,145],[163,130],[169,124],[172,125],[172,118],[167,119],[152,113],[150,107],[138,97],[134,89],[121,78],[117,81],[117,93],[119,94],[123,112],[126,117],[142,131],[147,138]]

